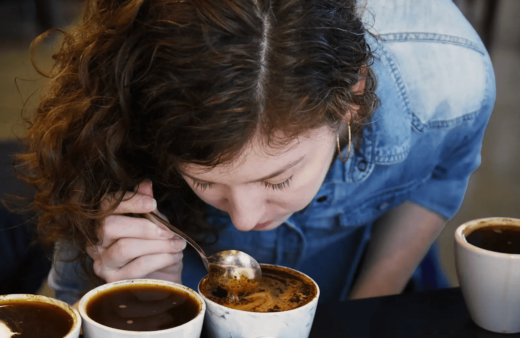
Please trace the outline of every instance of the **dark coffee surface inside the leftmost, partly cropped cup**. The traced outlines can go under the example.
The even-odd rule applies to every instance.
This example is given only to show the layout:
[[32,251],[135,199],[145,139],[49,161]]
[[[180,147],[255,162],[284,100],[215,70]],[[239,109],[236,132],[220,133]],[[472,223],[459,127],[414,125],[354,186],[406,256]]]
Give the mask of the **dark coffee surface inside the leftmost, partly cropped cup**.
[[62,308],[34,301],[6,301],[0,303],[0,320],[16,338],[63,338],[74,320]]

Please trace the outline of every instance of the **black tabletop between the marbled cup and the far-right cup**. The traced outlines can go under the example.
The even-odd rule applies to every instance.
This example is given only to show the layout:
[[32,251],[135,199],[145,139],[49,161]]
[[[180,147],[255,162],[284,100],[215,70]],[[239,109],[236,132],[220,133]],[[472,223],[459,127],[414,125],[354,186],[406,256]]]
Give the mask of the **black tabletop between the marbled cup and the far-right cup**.
[[462,292],[453,288],[319,304],[310,337],[520,338],[520,334],[476,326]]

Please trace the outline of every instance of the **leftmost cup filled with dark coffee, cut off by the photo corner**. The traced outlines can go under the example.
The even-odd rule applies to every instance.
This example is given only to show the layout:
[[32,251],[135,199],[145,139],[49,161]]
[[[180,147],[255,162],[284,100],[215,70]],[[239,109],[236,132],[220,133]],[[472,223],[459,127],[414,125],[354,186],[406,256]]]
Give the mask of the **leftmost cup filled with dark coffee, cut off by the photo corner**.
[[77,338],[80,314],[67,303],[33,294],[0,296],[0,337]]

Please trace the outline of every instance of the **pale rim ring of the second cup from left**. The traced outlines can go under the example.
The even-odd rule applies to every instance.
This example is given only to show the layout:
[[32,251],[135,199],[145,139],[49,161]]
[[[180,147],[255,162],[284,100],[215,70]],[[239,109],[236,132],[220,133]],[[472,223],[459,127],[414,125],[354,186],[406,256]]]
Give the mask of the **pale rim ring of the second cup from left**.
[[[181,325],[173,327],[173,328],[157,330],[157,331],[128,331],[128,330],[115,329],[115,328],[111,328],[109,326],[100,324],[97,321],[93,320],[92,318],[88,317],[85,306],[88,303],[88,301],[90,299],[92,299],[93,296],[97,295],[100,292],[106,291],[107,289],[111,288],[113,285],[131,285],[131,284],[132,285],[150,285],[150,284],[161,285],[161,286],[172,287],[177,290],[188,292],[190,295],[192,295],[194,298],[196,298],[197,302],[199,302],[200,311],[197,314],[197,316],[193,317],[190,321],[188,321],[184,324],[181,324]],[[120,281],[116,281],[116,282],[99,285],[99,287],[88,291],[83,297],[81,297],[80,304],[78,307],[79,307],[80,315],[85,322],[88,322],[89,324],[91,324],[95,327],[105,329],[107,331],[116,332],[116,333],[124,333],[126,335],[136,335],[136,336],[141,336],[143,333],[146,333],[147,335],[155,335],[155,334],[164,334],[164,333],[178,331],[178,330],[184,328],[187,324],[191,323],[192,321],[200,320],[200,317],[204,317],[204,314],[206,312],[206,303],[204,302],[204,299],[194,290],[186,287],[185,285],[179,284],[179,283],[170,282],[170,281],[161,280],[161,279],[148,279],[148,278],[125,279],[125,280],[120,280]]]

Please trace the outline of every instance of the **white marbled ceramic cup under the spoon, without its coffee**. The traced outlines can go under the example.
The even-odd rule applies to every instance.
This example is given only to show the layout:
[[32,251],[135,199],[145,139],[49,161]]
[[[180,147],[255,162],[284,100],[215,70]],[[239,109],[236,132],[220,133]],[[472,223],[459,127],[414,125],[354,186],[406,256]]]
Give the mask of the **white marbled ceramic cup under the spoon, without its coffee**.
[[[262,267],[276,267],[262,264]],[[289,269],[285,268],[284,269]],[[318,284],[302,272],[290,269],[296,275],[304,276],[316,286],[316,296],[304,306],[280,312],[258,313],[232,309],[206,298],[205,326],[210,338],[307,338],[313,324],[320,289]]]

